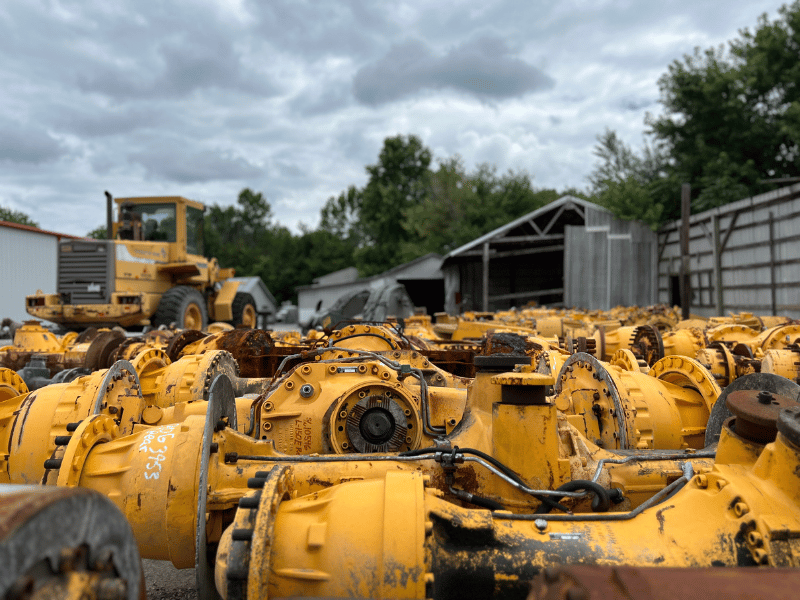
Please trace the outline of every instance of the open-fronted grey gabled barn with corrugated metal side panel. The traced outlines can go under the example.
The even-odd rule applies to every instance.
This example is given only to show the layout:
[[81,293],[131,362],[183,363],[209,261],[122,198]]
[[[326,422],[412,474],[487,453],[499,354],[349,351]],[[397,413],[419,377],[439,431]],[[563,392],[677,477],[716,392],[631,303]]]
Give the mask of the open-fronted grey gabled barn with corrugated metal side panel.
[[656,302],[657,238],[587,200],[563,196],[461,246],[442,263],[445,310],[531,301],[609,309]]

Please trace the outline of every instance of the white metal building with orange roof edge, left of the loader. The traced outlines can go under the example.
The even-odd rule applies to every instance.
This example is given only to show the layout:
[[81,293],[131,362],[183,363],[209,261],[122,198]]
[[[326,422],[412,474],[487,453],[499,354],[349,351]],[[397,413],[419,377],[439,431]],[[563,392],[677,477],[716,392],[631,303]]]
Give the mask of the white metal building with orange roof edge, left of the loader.
[[78,238],[0,221],[0,319],[30,319],[25,312],[25,296],[36,290],[56,291],[56,256],[61,239]]

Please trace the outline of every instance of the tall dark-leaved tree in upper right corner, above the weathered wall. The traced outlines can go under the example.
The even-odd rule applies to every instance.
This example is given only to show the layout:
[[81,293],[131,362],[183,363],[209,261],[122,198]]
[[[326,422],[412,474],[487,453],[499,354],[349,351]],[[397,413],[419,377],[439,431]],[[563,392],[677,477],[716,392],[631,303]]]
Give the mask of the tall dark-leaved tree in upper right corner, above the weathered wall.
[[[648,124],[665,144],[674,181],[704,210],[768,189],[800,167],[800,2],[762,15],[724,47],[695,49],[659,80],[664,113]],[[666,213],[674,214],[679,193]]]

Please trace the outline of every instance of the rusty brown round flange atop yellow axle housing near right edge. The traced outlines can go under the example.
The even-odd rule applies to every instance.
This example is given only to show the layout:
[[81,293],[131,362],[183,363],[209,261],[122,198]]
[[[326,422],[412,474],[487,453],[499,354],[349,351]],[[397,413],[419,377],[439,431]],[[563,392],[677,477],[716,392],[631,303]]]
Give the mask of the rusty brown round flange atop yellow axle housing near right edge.
[[794,398],[766,390],[733,392],[728,396],[726,404],[736,417],[733,421],[736,435],[757,444],[775,441],[781,410],[797,406]]

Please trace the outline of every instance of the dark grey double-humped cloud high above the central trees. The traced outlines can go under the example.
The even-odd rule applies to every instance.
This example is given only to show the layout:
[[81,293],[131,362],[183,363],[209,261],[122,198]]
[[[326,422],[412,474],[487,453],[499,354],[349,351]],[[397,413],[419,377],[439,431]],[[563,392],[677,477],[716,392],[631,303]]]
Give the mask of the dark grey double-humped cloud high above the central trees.
[[379,105],[425,89],[453,89],[481,99],[512,98],[553,87],[553,79],[515,58],[505,42],[484,37],[436,56],[421,41],[393,46],[353,80],[359,102]]

